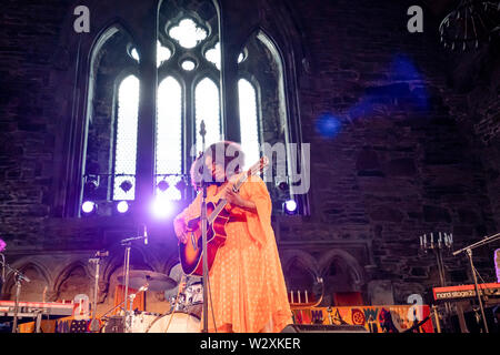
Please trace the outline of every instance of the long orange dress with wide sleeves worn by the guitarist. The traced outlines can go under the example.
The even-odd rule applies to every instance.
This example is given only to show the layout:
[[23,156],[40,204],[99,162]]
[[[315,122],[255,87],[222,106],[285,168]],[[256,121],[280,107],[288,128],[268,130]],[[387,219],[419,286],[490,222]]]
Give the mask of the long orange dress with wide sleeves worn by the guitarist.
[[[216,192],[216,185],[209,186],[207,201],[217,203],[220,193]],[[253,201],[257,213],[230,207],[227,240],[209,272],[209,332],[281,332],[292,318],[271,227],[269,192],[260,178],[252,176],[241,186],[240,195]],[[188,222],[199,215],[200,202],[198,194],[179,216]]]

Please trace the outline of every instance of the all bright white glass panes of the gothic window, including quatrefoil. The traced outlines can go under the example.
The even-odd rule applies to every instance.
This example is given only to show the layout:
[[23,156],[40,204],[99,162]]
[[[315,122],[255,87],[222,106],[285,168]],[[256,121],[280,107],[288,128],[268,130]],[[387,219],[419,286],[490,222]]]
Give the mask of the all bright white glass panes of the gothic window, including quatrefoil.
[[[208,38],[208,32],[194,20],[184,18],[177,26],[171,27],[166,32],[172,40],[169,47],[180,51],[181,55],[186,49],[197,47]],[[166,41],[166,40],[163,40]],[[157,67],[169,61],[172,57],[172,50],[157,41]],[[132,48],[130,55],[138,62],[140,55],[137,49]],[[193,55],[191,53],[191,55]],[[186,142],[183,136],[183,108],[191,103],[183,102],[182,78],[173,78],[169,72],[181,68],[183,71],[194,71],[200,60],[211,62],[220,70],[220,43],[216,44],[204,52],[204,58],[189,58],[179,62],[168,62],[164,67],[166,77],[159,78],[158,103],[157,103],[157,125],[156,125],[156,194],[166,200],[180,200],[181,191],[176,186],[183,171],[182,146]],[[243,60],[240,54],[238,61]],[[213,68],[213,70],[216,70]],[[217,70],[213,72],[218,72]],[[212,74],[213,74],[212,73]],[[259,159],[259,129],[256,88],[244,79],[241,79],[239,85],[240,104],[240,125],[241,143],[247,154],[247,168]],[[201,120],[204,121],[207,135],[206,148],[222,139],[222,126],[220,115],[220,91],[217,83],[209,77],[198,81],[193,88],[192,97],[194,102],[193,124],[196,124],[194,144],[197,153],[202,150],[200,131]],[[114,155],[114,174],[130,174],[132,176],[116,176],[113,181],[113,200],[133,200],[136,184],[136,159],[137,159],[137,130],[138,130],[138,105],[139,105],[139,80],[133,77],[127,77],[119,85],[118,95],[118,121]],[[191,118],[187,118],[191,119]],[[189,148],[188,148],[189,149]],[[123,181],[130,181],[132,187],[126,192],[120,184]],[[164,182],[163,182],[164,181]]]

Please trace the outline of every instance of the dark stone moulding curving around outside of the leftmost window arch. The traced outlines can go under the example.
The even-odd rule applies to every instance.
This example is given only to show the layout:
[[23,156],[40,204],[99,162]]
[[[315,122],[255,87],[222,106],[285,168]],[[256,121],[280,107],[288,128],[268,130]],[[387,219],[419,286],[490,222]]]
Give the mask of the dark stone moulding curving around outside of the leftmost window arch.
[[[73,21],[76,19],[72,9],[79,6],[78,1],[71,1],[68,4],[67,16],[63,20],[63,29],[60,31],[59,47],[54,54],[54,65],[62,67],[68,70],[67,79],[58,89],[58,93],[69,97],[70,105],[72,105],[71,124],[69,130],[62,138],[58,139],[57,144],[62,148],[67,146],[67,136],[72,142],[69,152],[66,149],[64,154],[60,156],[60,169],[67,171],[68,174],[61,174],[53,181],[56,205],[62,209],[54,212],[58,216],[74,217],[79,215],[80,210],[80,192],[82,189],[82,179],[84,163],[82,158],[86,155],[87,145],[87,122],[89,115],[89,91],[93,89],[91,77],[92,52],[99,41],[103,40],[103,36],[110,32],[120,31],[127,33],[128,38],[137,44],[138,51],[141,51],[148,41],[143,32],[151,30],[151,23],[154,21],[154,6],[157,1],[137,2],[133,7],[117,7],[112,1],[89,0],[86,6],[91,9],[91,32],[74,36],[72,31]],[[152,10],[152,11],[151,11]],[[151,20],[151,21],[148,21]],[[144,23],[144,21],[148,21]],[[102,41],[106,43],[106,41]],[[61,60],[62,57],[62,60]],[[62,62],[62,63],[61,63]],[[68,92],[70,89],[70,93]],[[63,119],[67,119],[63,116]],[[61,189],[62,186],[62,189]],[[57,209],[56,209],[57,210]]]

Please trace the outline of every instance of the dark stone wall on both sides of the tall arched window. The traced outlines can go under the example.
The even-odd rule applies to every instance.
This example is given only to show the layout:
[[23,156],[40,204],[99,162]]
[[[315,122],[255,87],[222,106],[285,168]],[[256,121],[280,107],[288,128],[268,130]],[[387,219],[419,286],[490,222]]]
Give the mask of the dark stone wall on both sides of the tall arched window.
[[[311,215],[276,217],[283,268],[300,260],[311,276],[327,275],[341,258],[339,270],[350,276],[329,274],[329,294],[349,291],[337,282],[351,283],[370,302],[369,290],[384,285],[404,303],[439,280],[436,258],[419,254],[419,235],[451,232],[458,248],[500,226],[498,62],[489,82],[464,92],[450,84],[437,28],[406,30],[404,1],[273,6],[293,11],[308,53],[307,61],[297,59],[304,67],[293,79],[303,142],[311,143]],[[2,10],[0,237],[9,262],[37,251],[49,255],[41,263],[59,275],[48,277],[62,277],[52,267],[60,260],[72,265],[78,253],[117,245],[133,232],[133,221],[57,217],[53,196],[61,185],[54,180],[67,174],[61,146],[68,145],[74,100],[68,69],[74,53],[61,50],[61,31],[72,8],[67,1],[10,1]],[[148,267],[168,273],[176,256],[170,225],[159,225],[151,243],[159,262]],[[63,257],[51,258],[56,251]],[[488,248],[477,253],[484,278],[494,275],[491,255]],[[446,264],[450,281],[471,282],[463,257],[447,256]],[[76,282],[90,277],[84,275],[76,272]],[[59,287],[50,291],[54,300],[71,290],[50,285]]]

